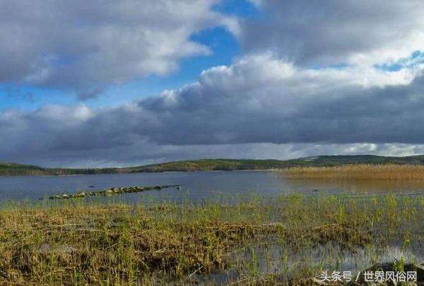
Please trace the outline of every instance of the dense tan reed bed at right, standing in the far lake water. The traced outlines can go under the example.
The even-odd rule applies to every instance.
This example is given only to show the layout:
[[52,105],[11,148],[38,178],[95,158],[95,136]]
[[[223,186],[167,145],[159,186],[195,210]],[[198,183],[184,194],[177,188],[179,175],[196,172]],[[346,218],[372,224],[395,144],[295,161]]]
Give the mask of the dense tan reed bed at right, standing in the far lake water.
[[291,167],[277,171],[292,179],[424,180],[423,165],[341,165]]

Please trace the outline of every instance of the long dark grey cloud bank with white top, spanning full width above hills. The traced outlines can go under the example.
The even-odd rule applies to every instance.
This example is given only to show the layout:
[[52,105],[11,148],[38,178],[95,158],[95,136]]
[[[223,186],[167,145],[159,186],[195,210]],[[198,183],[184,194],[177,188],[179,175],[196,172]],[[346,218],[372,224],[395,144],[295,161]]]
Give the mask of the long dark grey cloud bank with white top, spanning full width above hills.
[[315,70],[253,54],[121,107],[1,112],[0,155],[48,165],[132,165],[187,157],[414,154],[424,150],[423,69]]

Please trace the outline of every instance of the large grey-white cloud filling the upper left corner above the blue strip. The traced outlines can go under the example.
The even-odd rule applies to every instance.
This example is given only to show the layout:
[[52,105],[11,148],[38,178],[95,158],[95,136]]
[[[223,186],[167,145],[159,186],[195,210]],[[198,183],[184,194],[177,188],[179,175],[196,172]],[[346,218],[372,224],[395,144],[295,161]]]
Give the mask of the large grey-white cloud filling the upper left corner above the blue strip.
[[88,95],[165,75],[180,59],[211,52],[191,40],[196,32],[238,32],[237,20],[213,11],[217,1],[0,1],[0,83]]

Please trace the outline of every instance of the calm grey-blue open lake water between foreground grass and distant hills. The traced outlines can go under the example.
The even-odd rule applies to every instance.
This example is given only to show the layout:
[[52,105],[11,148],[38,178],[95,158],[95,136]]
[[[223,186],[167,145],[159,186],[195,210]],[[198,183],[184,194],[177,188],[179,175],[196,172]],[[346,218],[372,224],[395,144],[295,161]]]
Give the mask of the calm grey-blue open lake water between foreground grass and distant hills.
[[[140,200],[219,201],[246,196],[273,198],[281,194],[304,193],[307,196],[345,193],[424,194],[424,181],[337,181],[284,179],[271,171],[165,172],[138,174],[96,174],[78,176],[0,177],[0,200],[34,200],[56,193],[79,190],[96,191],[113,186],[181,185],[164,189],[129,193],[114,198]],[[93,186],[93,187],[90,187]]]

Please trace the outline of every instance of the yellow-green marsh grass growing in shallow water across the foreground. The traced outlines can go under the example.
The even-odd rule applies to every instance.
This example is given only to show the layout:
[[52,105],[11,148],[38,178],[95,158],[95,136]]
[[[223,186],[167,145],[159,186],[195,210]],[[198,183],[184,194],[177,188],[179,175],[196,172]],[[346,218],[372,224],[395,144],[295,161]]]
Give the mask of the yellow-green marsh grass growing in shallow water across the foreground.
[[[231,268],[237,272],[232,282],[295,284],[323,264],[299,266],[294,276],[270,276],[249,246],[272,242],[296,252],[334,244],[351,253],[397,241],[407,247],[422,242],[423,222],[423,197],[8,204],[0,208],[0,284],[190,284]],[[249,261],[237,260],[241,249],[249,250]]]

